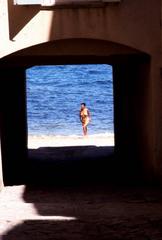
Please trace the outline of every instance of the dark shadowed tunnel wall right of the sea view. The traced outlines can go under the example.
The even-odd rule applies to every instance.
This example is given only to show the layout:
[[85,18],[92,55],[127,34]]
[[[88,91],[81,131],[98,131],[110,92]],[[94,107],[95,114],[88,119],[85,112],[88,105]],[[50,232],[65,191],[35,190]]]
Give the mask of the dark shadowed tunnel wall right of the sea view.
[[129,177],[151,179],[157,174],[151,99],[149,60],[114,65],[116,154],[121,171]]

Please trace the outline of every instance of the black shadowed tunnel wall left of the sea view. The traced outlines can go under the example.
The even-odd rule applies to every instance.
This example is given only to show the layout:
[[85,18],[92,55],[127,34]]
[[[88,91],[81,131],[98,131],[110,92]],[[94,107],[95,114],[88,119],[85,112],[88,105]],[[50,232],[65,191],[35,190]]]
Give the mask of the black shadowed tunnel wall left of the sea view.
[[3,176],[5,184],[19,183],[27,158],[25,69],[0,67],[0,79]]

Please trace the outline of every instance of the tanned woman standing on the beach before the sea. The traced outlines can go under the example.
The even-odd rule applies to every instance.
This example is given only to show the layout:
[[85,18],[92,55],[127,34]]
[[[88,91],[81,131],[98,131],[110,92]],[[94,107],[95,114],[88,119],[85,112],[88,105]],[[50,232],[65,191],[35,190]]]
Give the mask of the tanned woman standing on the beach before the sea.
[[81,108],[80,108],[80,121],[82,123],[83,127],[83,135],[87,135],[87,125],[90,121],[90,112],[88,108],[86,107],[85,103],[81,103]]

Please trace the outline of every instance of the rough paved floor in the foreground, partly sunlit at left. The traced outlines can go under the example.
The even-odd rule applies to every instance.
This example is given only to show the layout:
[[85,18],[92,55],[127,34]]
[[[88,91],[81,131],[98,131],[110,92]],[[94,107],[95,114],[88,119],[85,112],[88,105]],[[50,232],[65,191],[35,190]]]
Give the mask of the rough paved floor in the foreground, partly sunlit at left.
[[162,190],[146,187],[5,187],[1,240],[162,240]]

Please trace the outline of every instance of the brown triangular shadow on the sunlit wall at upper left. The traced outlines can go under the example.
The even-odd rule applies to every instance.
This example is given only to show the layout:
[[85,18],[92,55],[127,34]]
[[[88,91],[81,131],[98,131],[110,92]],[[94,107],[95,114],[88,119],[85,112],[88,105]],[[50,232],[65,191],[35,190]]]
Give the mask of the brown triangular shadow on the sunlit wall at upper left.
[[[27,11],[28,10],[28,11]],[[8,0],[8,14],[9,14],[9,36],[10,40],[29,23],[32,18],[39,12],[39,6],[18,6],[14,5],[13,1]]]

